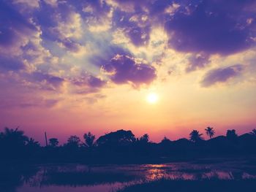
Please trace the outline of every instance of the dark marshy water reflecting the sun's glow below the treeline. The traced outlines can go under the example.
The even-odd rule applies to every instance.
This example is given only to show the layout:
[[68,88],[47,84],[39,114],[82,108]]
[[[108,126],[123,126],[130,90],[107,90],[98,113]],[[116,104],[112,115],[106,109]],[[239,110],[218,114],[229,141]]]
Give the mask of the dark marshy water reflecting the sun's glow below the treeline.
[[1,177],[5,182],[0,191],[51,192],[116,191],[125,185],[156,180],[162,177],[195,180],[209,177],[219,179],[256,178],[256,165],[249,161],[218,161],[130,164],[130,165],[37,165],[12,168],[12,172]]

